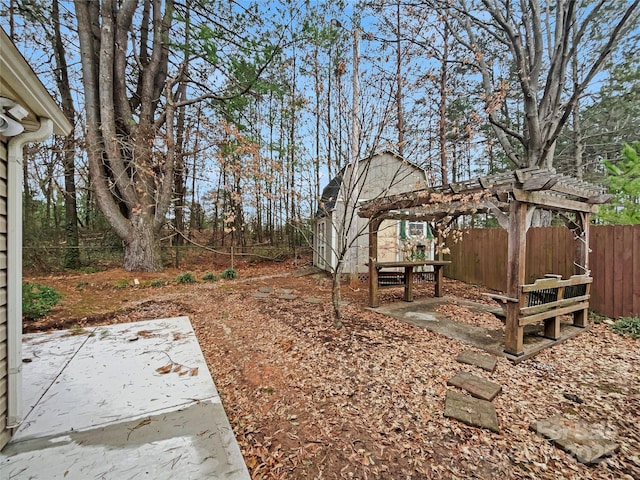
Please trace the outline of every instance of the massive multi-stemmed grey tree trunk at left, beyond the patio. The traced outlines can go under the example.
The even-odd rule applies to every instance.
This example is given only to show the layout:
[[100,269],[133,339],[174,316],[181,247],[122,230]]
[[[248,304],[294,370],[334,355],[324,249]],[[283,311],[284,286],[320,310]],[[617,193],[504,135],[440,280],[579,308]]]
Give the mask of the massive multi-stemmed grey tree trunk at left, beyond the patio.
[[[76,0],[75,7],[96,198],[124,241],[124,268],[159,270],[156,234],[171,198],[174,158],[161,159],[153,139],[159,128],[158,100],[167,80],[173,2],[145,1],[141,12],[135,0],[119,4]],[[134,26],[136,14],[140,17]],[[135,97],[130,99],[126,83],[130,52],[124,46],[134,30],[139,38],[138,72]]]

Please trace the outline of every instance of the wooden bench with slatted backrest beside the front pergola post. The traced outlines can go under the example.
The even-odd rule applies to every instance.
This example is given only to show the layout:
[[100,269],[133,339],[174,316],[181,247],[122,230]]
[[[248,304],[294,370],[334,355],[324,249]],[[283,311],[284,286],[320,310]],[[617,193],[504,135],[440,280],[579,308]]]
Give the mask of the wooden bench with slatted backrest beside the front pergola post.
[[[500,303],[502,312],[496,312],[497,316],[506,318],[510,306],[517,305],[517,326],[520,330],[526,325],[544,321],[544,336],[556,340],[560,337],[561,315],[572,313],[574,325],[587,326],[591,282],[593,278],[588,275],[573,275],[566,280],[562,280],[560,275],[545,275],[534,283],[521,285],[519,298],[492,293],[485,295]],[[519,344],[522,344],[521,339]]]

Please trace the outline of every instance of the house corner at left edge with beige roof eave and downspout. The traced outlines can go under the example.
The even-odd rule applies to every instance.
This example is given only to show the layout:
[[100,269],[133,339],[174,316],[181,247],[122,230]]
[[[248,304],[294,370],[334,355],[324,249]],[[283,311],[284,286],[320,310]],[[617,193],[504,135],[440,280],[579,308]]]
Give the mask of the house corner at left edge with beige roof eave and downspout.
[[[0,28],[0,52],[2,52],[0,54],[0,97],[20,104],[27,111],[27,116],[21,120],[25,127],[24,133],[11,137],[11,145],[8,145],[7,138],[0,138],[0,448],[2,448],[9,440],[12,429],[22,421],[20,371],[22,366],[20,355],[22,212],[18,163],[26,143],[44,141],[51,133],[68,135],[73,127],[2,28]],[[16,165],[17,176],[8,171],[9,161],[12,166]],[[9,198],[9,189],[11,189],[12,198]],[[11,228],[8,226],[9,221],[12,222]],[[9,250],[11,253],[7,254]],[[9,378],[9,367],[12,368],[11,378]],[[7,416],[11,418],[8,419]],[[7,425],[12,429],[7,429]]]

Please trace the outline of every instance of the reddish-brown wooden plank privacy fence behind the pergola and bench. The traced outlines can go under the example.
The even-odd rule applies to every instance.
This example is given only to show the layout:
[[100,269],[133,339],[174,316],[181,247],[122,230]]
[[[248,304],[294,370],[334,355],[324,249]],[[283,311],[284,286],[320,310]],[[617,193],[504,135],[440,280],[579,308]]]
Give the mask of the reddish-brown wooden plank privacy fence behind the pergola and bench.
[[[640,316],[640,225],[592,226],[589,269],[592,310],[609,317]],[[547,273],[567,277],[575,270],[573,234],[566,227],[527,232],[527,282]],[[451,265],[444,274],[504,291],[507,284],[507,232],[501,228],[465,230],[448,245]]]

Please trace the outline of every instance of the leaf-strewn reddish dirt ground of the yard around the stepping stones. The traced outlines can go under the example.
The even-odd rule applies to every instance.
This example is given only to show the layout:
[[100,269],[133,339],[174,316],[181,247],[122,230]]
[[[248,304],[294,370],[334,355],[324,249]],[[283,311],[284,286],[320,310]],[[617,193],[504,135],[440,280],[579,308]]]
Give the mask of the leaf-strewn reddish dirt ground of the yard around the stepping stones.
[[[454,360],[469,347],[367,310],[364,283],[343,286],[344,326],[334,328],[330,281],[296,275],[304,264],[241,263],[235,280],[187,285],[175,282],[186,267],[26,275],[64,298],[25,330],[189,316],[255,479],[640,478],[638,341],[598,324],[517,366],[500,358],[489,374]],[[206,260],[191,271],[200,279],[224,268]],[[296,298],[254,297],[261,288]],[[432,290],[417,286],[415,294]],[[480,292],[445,283],[446,295],[481,301]],[[401,294],[385,290],[381,302]],[[495,321],[463,307],[450,313]],[[461,369],[502,385],[493,401],[501,433],[443,416],[453,388],[446,382]],[[559,414],[619,443],[618,452],[585,466],[528,428]]]

